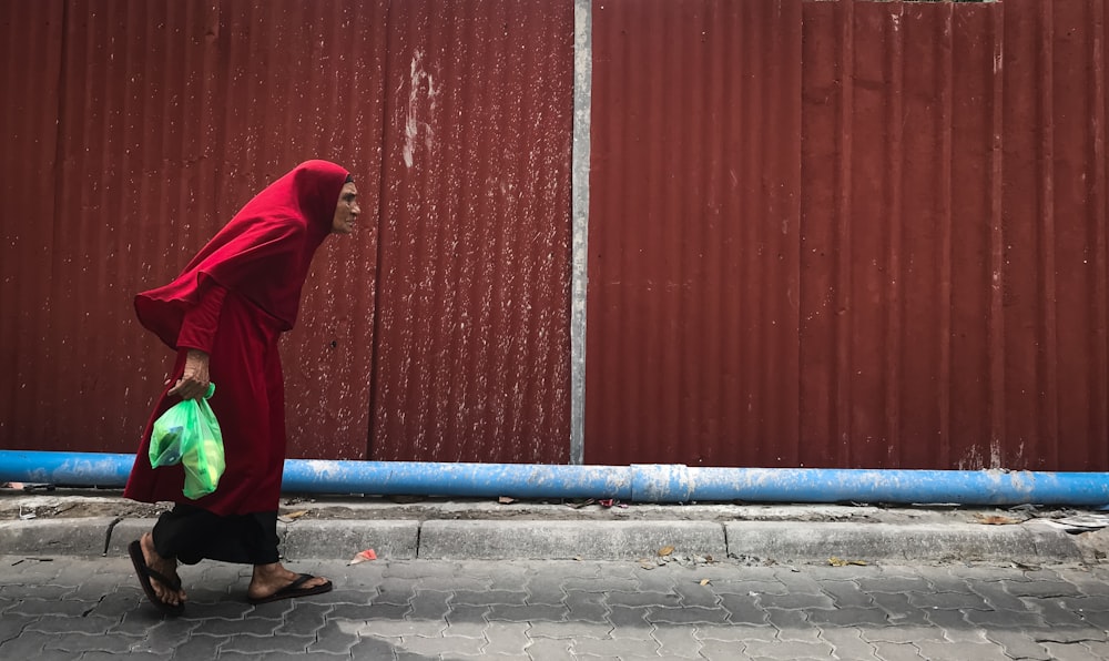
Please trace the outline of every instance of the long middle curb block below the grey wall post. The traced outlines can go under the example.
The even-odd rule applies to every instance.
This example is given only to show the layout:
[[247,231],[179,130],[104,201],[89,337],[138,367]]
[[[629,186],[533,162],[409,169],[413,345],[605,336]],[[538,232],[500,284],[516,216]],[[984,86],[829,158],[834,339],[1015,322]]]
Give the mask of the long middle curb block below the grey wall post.
[[726,552],[724,529],[712,521],[425,521],[419,557],[430,559],[588,559]]

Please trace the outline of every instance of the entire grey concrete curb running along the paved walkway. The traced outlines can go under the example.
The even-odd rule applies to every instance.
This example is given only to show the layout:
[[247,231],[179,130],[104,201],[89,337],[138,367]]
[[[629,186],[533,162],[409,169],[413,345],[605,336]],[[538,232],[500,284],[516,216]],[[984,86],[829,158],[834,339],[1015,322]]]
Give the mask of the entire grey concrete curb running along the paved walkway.
[[[126,553],[154,519],[88,517],[0,521],[0,555]],[[675,559],[783,563],[1080,562],[1076,538],[1042,522],[879,523],[810,521],[551,521],[322,519],[278,523],[289,560],[349,559],[373,548],[385,560],[629,560],[673,547]]]

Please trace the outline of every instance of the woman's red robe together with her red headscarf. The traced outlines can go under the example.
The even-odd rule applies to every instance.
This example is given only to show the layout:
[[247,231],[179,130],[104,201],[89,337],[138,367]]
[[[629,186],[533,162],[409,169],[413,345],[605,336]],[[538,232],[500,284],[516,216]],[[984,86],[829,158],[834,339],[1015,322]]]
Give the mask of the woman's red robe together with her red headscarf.
[[[214,513],[277,509],[285,461],[285,388],[277,339],[296,322],[316,248],[330,232],[347,171],[308,161],[258,193],[172,283],[135,297],[139,321],[177,352],[142,436],[123,495],[144,502],[187,502]],[[226,469],[214,494],[181,489],[180,466],[153,469],[154,420],[177,401],[166,393],[189,348],[210,356],[216,385],[208,400],[223,435]]]

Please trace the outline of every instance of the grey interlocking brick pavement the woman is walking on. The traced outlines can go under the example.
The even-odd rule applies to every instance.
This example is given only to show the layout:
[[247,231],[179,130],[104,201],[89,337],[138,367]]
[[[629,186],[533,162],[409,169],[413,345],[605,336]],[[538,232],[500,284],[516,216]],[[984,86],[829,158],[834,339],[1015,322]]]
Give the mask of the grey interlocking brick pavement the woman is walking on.
[[248,568],[203,562],[181,569],[186,614],[163,619],[125,557],[0,556],[0,659],[1109,658],[1100,566],[289,567],[336,590],[252,607]]

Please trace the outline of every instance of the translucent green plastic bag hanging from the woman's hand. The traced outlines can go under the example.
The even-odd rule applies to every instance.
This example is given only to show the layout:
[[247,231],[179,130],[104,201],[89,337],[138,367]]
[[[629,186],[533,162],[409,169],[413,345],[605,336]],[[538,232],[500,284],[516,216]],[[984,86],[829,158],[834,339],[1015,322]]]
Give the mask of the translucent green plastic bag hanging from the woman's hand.
[[182,399],[154,420],[150,437],[150,465],[173,466],[185,469],[189,498],[206,496],[220,486],[223,475],[223,435],[207,399],[215,394],[215,384],[208,384],[204,399]]

